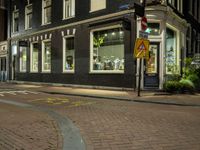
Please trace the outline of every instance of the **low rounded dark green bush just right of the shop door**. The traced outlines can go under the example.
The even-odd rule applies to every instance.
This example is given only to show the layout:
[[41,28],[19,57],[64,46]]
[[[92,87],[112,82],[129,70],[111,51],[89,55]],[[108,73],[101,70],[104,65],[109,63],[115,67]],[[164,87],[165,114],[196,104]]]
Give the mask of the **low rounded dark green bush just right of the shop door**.
[[179,93],[182,89],[182,84],[177,81],[166,81],[164,83],[164,90],[170,93]]

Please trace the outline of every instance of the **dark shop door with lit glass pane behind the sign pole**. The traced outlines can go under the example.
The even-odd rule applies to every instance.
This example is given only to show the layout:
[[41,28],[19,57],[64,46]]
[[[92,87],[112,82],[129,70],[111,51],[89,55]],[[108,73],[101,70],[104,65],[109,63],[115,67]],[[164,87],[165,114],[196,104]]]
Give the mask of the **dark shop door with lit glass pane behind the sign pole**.
[[159,88],[160,43],[150,43],[149,60],[144,62],[144,88]]

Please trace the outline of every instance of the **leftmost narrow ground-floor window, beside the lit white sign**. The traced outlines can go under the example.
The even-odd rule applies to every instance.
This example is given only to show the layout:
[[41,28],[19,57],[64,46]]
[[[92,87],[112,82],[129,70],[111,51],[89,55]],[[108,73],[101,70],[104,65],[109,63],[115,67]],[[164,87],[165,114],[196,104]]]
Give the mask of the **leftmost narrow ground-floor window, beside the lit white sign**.
[[26,72],[27,47],[20,47],[20,72]]

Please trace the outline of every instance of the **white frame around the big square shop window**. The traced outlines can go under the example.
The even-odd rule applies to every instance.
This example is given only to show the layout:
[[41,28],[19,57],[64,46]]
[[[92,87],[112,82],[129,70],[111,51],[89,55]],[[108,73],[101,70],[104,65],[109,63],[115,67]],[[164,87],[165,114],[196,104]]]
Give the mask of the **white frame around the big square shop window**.
[[[90,31],[90,74],[124,74],[125,72],[125,62],[124,62],[124,70],[93,70],[93,33],[95,31],[103,31],[103,30],[109,30],[109,29],[115,29],[115,28],[121,28],[122,25],[113,25],[98,29],[93,29]],[[124,49],[124,58],[125,58],[125,49]],[[124,59],[125,61],[125,59]]]

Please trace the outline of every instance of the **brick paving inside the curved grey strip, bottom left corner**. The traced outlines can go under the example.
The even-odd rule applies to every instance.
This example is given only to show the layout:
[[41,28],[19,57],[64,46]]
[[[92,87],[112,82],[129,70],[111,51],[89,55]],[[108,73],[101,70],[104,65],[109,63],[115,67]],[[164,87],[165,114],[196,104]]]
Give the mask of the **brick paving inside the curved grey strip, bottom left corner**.
[[55,121],[39,111],[1,103],[0,150],[60,150]]

